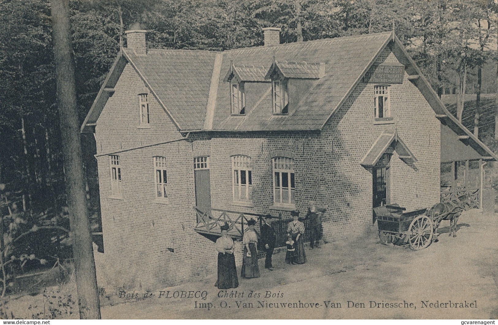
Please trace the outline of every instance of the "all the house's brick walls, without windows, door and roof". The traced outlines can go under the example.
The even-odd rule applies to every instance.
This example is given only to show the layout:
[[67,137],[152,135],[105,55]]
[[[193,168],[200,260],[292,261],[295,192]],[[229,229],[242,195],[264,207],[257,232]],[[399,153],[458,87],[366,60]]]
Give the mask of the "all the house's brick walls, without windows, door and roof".
[[[396,59],[387,51],[379,60],[395,63]],[[147,90],[130,66],[115,88],[97,123],[98,155],[181,138],[150,94],[150,128],[138,128],[137,95]],[[107,287],[157,289],[215,272],[214,243],[193,230],[193,157],[210,157],[213,207],[288,217],[294,207],[273,204],[271,153],[290,153],[295,163],[295,207],[303,214],[309,200],[326,207],[324,235],[334,240],[362,233],[371,225],[372,174],[360,161],[382,130],[397,130],[418,162],[406,164],[393,155],[390,201],[408,209],[436,202],[439,122],[406,76],[403,84],[391,85],[390,96],[393,124],[374,123],[373,84],[360,84],[321,133],[192,134],[187,141],[120,153],[123,199],[111,198],[109,156],[98,158]],[[236,154],[251,157],[252,205],[232,200],[231,155]],[[153,157],[158,155],[166,157],[167,202],[155,200]],[[240,265],[242,245],[236,246]]]

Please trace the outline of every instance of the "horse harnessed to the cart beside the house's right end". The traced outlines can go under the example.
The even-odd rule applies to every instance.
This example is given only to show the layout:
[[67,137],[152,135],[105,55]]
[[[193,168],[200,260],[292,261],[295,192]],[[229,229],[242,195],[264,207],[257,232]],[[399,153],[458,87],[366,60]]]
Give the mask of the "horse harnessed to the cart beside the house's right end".
[[[457,236],[457,222],[458,218],[463,211],[467,211],[471,208],[470,197],[467,194],[461,195],[456,199],[448,202],[440,202],[434,204],[431,208],[427,209],[425,213],[426,216],[431,218],[434,223],[434,233],[437,234],[437,229],[442,220],[450,220],[450,233],[448,236]],[[437,237],[434,242],[437,242]]]

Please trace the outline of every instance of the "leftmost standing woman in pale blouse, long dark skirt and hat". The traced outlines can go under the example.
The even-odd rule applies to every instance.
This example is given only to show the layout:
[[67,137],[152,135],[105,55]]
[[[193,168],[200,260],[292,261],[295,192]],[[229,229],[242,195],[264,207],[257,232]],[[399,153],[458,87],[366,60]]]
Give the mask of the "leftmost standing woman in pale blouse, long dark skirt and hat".
[[234,241],[228,236],[228,224],[221,226],[221,237],[216,240],[218,251],[218,289],[239,287],[234,257]]

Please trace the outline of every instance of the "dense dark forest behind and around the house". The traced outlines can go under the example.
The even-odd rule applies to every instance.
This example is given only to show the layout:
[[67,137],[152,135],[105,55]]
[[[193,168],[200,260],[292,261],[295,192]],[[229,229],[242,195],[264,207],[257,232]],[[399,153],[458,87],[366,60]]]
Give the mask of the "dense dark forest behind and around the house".
[[[495,119],[495,128],[479,132],[481,92],[497,93],[493,0],[72,0],[70,5],[81,122],[126,45],[124,30],[135,23],[147,29],[148,48],[203,50],[262,45],[261,28],[267,26],[282,28],[283,43],[394,28],[438,95],[448,88],[455,93],[460,120],[472,84],[471,131],[498,150]],[[50,1],[0,0],[0,251],[9,263],[0,276],[2,297],[20,273],[71,259],[56,95]],[[498,117],[495,99],[492,106]],[[95,141],[92,134],[81,139],[91,230],[98,234]]]

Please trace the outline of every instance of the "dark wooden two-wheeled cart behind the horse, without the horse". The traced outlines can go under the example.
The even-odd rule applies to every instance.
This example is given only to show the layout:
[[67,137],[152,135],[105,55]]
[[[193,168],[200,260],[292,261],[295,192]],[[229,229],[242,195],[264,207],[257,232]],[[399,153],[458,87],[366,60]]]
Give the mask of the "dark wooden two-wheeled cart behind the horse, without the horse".
[[405,212],[397,205],[384,205],[373,209],[377,218],[378,238],[384,245],[405,244],[414,250],[426,248],[432,242],[434,225],[424,215],[427,209]]

